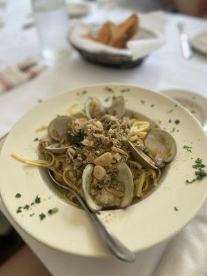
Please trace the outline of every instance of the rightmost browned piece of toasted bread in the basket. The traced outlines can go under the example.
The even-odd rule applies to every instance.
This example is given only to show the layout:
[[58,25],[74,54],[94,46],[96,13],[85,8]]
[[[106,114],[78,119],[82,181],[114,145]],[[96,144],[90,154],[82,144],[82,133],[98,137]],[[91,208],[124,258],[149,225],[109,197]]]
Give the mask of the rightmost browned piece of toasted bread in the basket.
[[108,45],[116,48],[126,48],[126,42],[138,31],[139,22],[137,14],[132,14],[126,21],[113,30]]

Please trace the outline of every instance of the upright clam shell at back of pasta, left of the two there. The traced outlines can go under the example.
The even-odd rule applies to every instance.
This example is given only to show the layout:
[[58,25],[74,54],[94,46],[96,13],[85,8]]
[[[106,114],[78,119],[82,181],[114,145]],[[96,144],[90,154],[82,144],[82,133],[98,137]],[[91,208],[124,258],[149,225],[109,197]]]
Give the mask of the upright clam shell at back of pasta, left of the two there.
[[101,102],[96,98],[89,98],[86,101],[85,112],[88,119],[99,119],[106,113],[105,108],[103,108]]

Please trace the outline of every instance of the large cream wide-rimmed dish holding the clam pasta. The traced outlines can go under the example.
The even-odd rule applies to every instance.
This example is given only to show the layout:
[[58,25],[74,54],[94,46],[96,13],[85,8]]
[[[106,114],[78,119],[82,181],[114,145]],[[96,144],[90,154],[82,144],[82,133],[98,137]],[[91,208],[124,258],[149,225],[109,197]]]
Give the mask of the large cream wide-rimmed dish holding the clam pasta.
[[[106,86],[110,86],[115,93],[105,90]],[[204,150],[207,146],[206,135],[189,112],[164,95],[135,86],[114,84],[79,88],[32,108],[12,128],[1,151],[0,188],[3,204],[14,221],[39,242],[75,255],[110,255],[84,211],[59,200],[54,191],[48,188],[46,179],[41,178],[39,169],[12,159],[11,152],[37,159],[38,142],[34,139],[42,137],[43,132],[35,132],[36,128],[47,125],[57,115],[65,114],[70,103],[78,101],[79,108],[82,108],[89,96],[98,97],[104,102],[106,97],[119,95],[120,90],[125,88],[130,88],[129,92],[122,94],[126,98],[127,108],[139,110],[168,131],[175,128],[172,135],[177,141],[177,157],[163,172],[158,188],[146,199],[126,210],[105,211],[101,213],[101,219],[128,248],[139,251],[178,233],[204,203],[207,177],[186,185],[186,179],[194,177],[194,160],[200,157],[207,164]],[[87,92],[84,95],[83,90]],[[169,119],[171,123],[168,123]],[[180,121],[178,125],[175,124],[177,119]],[[192,153],[186,151],[184,145],[192,146]],[[15,198],[17,193],[21,193],[21,198]],[[30,204],[37,195],[41,197],[40,204],[31,206],[32,210],[16,213],[18,206]],[[47,213],[55,207],[59,208],[58,213],[40,221],[40,213]],[[34,215],[30,217],[32,213]]]

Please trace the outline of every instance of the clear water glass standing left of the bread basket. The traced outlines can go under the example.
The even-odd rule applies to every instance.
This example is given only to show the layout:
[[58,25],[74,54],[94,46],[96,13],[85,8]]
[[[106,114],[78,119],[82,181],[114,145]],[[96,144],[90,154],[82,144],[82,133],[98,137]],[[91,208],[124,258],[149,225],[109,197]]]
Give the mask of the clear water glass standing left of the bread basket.
[[71,53],[67,43],[69,18],[64,0],[32,0],[43,57],[57,60]]

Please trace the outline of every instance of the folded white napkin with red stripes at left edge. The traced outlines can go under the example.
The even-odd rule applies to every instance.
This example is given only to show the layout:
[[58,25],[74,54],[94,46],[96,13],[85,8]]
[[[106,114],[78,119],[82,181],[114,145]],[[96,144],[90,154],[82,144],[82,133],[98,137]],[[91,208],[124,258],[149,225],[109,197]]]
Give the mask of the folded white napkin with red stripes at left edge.
[[32,79],[46,68],[46,65],[38,64],[32,57],[27,57],[13,66],[6,66],[0,70],[0,94]]

